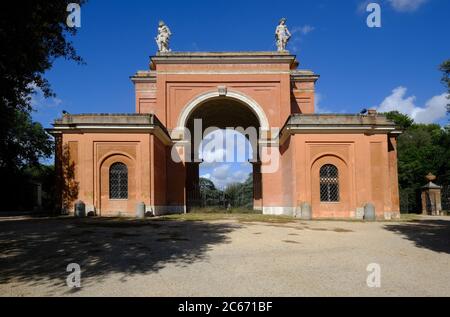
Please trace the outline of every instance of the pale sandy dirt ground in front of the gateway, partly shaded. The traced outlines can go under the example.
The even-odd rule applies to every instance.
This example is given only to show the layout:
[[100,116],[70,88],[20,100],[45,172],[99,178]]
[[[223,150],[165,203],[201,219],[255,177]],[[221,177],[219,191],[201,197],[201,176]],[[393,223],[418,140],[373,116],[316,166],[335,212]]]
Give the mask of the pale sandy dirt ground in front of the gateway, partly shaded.
[[449,268],[449,218],[0,220],[1,296],[449,296]]

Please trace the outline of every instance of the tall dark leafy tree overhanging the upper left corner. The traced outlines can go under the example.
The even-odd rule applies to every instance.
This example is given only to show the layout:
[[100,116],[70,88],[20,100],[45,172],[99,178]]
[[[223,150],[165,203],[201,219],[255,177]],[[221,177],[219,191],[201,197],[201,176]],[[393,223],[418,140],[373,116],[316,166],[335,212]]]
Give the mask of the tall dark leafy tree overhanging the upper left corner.
[[55,59],[82,62],[69,40],[77,29],[66,24],[71,2],[85,1],[19,1],[0,10],[0,177],[10,181],[1,193],[11,201],[23,183],[14,188],[12,180],[52,154],[50,136],[31,119],[32,94],[54,96],[44,75]]

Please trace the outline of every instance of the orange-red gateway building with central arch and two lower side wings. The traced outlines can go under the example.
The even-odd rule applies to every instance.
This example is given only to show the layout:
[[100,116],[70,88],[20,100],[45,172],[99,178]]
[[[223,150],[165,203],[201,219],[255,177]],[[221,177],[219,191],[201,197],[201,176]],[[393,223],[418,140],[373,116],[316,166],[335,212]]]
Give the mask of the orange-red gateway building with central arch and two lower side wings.
[[[56,139],[61,208],[81,200],[99,216],[189,210],[198,188],[200,132],[257,128],[254,208],[313,218],[355,218],[368,203],[378,218],[398,217],[396,138],[386,117],[315,114],[319,76],[278,52],[160,51],[138,71],[135,113],[64,114]],[[200,133],[201,134],[201,133]]]

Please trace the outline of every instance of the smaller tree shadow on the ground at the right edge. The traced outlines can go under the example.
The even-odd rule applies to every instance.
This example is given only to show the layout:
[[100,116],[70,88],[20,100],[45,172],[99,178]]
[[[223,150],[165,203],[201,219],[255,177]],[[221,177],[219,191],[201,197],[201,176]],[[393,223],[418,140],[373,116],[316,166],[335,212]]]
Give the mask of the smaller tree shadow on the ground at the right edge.
[[418,248],[450,253],[450,219],[415,220],[384,228],[411,240]]

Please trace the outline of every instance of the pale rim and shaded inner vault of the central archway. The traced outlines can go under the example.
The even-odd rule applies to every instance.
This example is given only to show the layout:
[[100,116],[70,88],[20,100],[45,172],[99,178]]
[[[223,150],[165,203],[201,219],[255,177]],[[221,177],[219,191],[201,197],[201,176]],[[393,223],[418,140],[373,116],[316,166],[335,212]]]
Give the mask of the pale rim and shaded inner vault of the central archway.
[[[208,98],[205,98],[208,96]],[[256,210],[262,209],[262,178],[259,161],[259,138],[263,128],[261,123],[266,125],[267,118],[261,107],[249,98],[241,97],[241,94],[233,93],[232,96],[220,96],[216,93],[207,93],[194,102],[189,103],[180,115],[179,129],[187,129],[190,133],[184,133],[184,141],[186,147],[189,147],[190,155],[185,156],[186,167],[186,206],[188,211],[191,207],[198,207],[198,200],[200,198],[200,166],[202,160],[200,158],[200,143],[207,134],[213,130],[229,130],[233,129],[246,138],[246,143],[252,149],[253,159],[248,162],[252,166],[253,176],[253,208]],[[252,102],[246,104],[245,101]],[[255,110],[256,109],[256,110]],[[185,117],[185,114],[189,116]],[[197,126],[194,126],[197,125]],[[201,134],[201,136],[196,135]],[[186,139],[187,136],[190,139]],[[229,140],[227,141],[229,142]],[[227,146],[230,146],[229,144]],[[236,147],[235,144],[231,146]],[[223,150],[223,149],[222,149]],[[237,153],[234,153],[237,154]],[[244,158],[233,155],[232,158],[225,158],[223,164],[231,163],[246,163]],[[217,162],[216,162],[217,163]],[[233,206],[238,207],[238,206]]]

